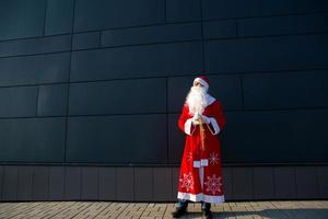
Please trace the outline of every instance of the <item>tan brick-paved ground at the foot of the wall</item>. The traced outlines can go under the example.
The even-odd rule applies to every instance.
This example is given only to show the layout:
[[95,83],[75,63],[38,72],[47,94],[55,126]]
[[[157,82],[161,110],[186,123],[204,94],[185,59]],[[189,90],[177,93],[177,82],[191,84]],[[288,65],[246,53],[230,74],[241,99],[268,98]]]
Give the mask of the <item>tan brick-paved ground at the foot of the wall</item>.
[[[172,218],[174,204],[110,201],[0,203],[0,219]],[[214,218],[327,219],[328,200],[226,201],[213,205]],[[189,204],[188,216],[202,218],[200,204]]]

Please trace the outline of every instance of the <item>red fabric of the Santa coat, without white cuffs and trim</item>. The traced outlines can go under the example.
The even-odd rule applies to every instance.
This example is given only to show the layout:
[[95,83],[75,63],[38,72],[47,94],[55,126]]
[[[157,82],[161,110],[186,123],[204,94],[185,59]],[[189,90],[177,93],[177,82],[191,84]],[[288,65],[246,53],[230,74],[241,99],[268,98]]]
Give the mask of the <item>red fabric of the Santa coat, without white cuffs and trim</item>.
[[[225,116],[223,114],[221,103],[215,100],[212,104],[208,105],[204,108],[203,115],[208,117],[213,117],[219,127],[220,132],[225,126]],[[181,131],[185,132],[185,123],[187,119],[192,118],[192,115],[189,115],[188,105],[184,105],[183,112],[178,119],[178,127]],[[189,195],[197,195],[202,200],[202,194],[208,196],[223,196],[223,180],[221,171],[221,140],[219,135],[213,135],[209,128],[214,130],[213,126],[207,126],[203,124],[206,129],[204,138],[204,150],[201,150],[201,140],[199,126],[191,127],[191,135],[186,135],[185,150],[180,165],[179,173],[179,184],[178,192]],[[219,134],[220,134],[219,132]],[[203,187],[201,187],[200,177],[199,177],[199,168],[194,166],[194,161],[199,161],[201,159],[208,159],[208,165],[203,166]],[[189,182],[186,183],[186,180],[189,178]],[[219,187],[209,186],[209,180],[220,178]],[[211,181],[213,183],[213,181]],[[218,181],[216,181],[218,183]],[[189,198],[187,198],[189,199]],[[198,199],[199,200],[199,199]],[[197,201],[198,201],[197,200]]]

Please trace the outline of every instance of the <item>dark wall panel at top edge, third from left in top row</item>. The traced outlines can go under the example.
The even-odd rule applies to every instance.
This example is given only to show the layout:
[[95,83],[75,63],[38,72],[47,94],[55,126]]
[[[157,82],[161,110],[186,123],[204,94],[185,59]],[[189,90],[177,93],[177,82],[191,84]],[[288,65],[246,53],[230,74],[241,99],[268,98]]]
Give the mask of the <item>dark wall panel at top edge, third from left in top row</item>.
[[163,0],[87,0],[75,2],[74,31],[164,23]]

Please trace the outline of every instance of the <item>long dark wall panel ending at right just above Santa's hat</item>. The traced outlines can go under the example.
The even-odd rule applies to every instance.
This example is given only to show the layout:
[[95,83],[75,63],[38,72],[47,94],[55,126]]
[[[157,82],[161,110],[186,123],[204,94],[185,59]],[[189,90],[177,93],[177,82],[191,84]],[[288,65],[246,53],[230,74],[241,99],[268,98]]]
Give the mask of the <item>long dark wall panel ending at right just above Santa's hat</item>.
[[202,69],[201,43],[74,51],[71,81],[163,77]]

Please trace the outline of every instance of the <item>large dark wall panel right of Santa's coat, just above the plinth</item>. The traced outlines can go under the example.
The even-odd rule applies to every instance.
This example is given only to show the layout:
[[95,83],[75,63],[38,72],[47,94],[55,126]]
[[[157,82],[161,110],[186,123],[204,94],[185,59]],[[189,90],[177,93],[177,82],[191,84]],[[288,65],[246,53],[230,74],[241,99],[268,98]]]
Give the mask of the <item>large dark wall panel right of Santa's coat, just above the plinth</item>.
[[327,115],[326,110],[229,112],[223,161],[325,162]]

